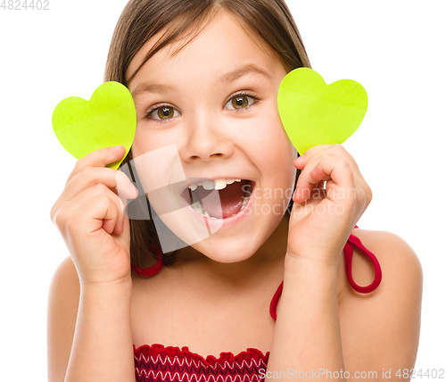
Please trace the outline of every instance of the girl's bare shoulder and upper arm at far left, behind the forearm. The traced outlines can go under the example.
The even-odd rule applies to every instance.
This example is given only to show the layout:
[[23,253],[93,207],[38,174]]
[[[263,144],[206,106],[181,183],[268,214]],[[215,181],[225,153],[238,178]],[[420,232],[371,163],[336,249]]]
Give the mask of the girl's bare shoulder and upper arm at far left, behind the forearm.
[[65,378],[78,317],[80,284],[71,257],[54,271],[48,293],[47,355],[48,380]]

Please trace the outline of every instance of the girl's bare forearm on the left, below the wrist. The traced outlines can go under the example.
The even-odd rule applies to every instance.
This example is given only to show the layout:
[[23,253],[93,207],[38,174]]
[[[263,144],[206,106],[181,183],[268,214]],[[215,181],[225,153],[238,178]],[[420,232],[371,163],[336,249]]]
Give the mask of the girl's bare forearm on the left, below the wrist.
[[135,381],[131,284],[81,288],[64,382]]

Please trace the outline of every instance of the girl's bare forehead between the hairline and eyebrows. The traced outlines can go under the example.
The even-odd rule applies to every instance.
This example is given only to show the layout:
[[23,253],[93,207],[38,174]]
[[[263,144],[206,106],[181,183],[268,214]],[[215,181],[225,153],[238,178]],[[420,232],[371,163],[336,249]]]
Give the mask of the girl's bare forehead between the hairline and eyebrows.
[[[128,79],[144,61],[145,55],[159,41],[166,30],[161,30],[151,38],[136,54],[128,66]],[[227,71],[229,66],[255,63],[273,77],[284,71],[278,54],[255,37],[255,32],[235,19],[228,12],[219,12],[209,24],[205,23],[198,32],[187,33],[177,41],[165,46],[145,62],[129,84],[136,87],[137,82],[147,75],[178,76],[200,73],[205,78]]]

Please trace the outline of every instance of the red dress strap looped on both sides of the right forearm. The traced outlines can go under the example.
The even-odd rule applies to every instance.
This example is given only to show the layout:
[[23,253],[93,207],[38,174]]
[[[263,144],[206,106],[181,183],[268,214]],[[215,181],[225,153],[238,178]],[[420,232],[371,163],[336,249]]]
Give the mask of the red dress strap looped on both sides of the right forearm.
[[[355,228],[359,228],[355,226]],[[351,259],[353,257],[353,246],[358,247],[359,251],[365,253],[373,262],[373,266],[375,268],[375,279],[368,286],[359,286],[353,280],[353,276],[351,275]],[[382,272],[381,266],[379,265],[378,260],[376,259],[375,254],[368,251],[368,249],[361,243],[358,237],[355,237],[353,234],[347,239],[343,247],[343,255],[345,258],[345,270],[347,271],[347,278],[351,284],[351,287],[359,293],[371,293],[373,292],[381,283]],[[284,289],[284,282],[279,285],[276,293],[274,294],[271,303],[269,305],[269,314],[274,320],[277,320],[277,303],[279,301],[280,296],[282,295],[282,290]]]

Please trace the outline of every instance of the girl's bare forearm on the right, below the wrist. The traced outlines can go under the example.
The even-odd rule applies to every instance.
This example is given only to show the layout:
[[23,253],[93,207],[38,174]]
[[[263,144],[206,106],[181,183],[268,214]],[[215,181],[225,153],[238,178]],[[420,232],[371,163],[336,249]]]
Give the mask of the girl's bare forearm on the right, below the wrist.
[[286,257],[284,290],[268,361],[271,373],[266,380],[274,371],[282,371],[282,376],[290,371],[287,379],[299,378],[301,371],[299,379],[316,378],[316,373],[319,379],[344,380],[340,374],[332,378],[322,374],[322,370],[344,370],[336,269]]

